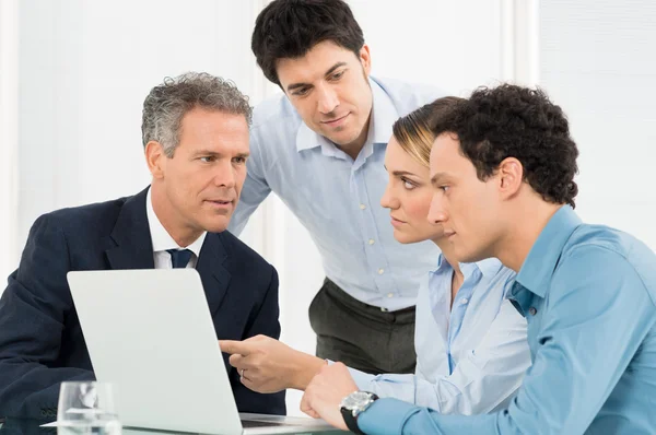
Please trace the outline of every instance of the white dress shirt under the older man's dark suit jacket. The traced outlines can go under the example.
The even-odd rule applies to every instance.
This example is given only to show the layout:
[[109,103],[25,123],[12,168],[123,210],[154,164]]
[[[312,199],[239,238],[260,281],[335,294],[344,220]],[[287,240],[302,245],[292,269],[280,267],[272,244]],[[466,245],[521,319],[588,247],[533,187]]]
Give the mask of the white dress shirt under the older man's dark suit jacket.
[[194,255],[189,259],[187,268],[195,268],[198,257],[200,257],[200,249],[202,248],[202,244],[208,233],[203,232],[200,237],[198,237],[196,242],[189,246],[179,246],[173,239],[173,237],[171,237],[171,234],[168,234],[166,228],[164,228],[162,222],[160,222],[160,219],[155,214],[151,189],[148,190],[148,198],[145,199],[145,214],[148,216],[148,226],[150,227],[151,232],[151,240],[153,242],[155,269],[173,269],[171,254],[166,251],[167,249],[189,249],[191,252],[194,252]]

